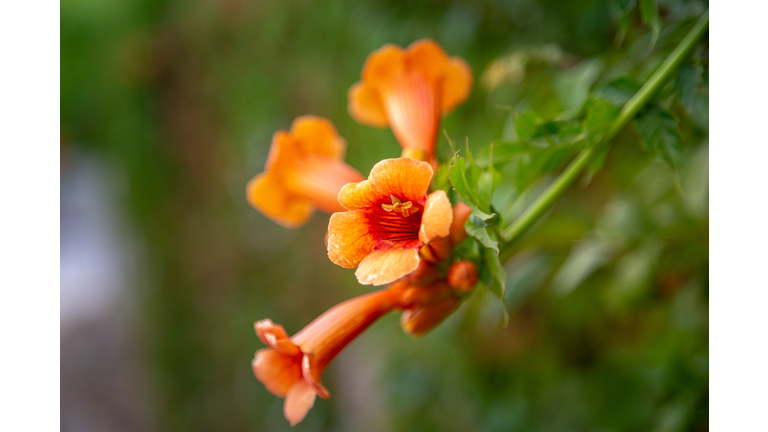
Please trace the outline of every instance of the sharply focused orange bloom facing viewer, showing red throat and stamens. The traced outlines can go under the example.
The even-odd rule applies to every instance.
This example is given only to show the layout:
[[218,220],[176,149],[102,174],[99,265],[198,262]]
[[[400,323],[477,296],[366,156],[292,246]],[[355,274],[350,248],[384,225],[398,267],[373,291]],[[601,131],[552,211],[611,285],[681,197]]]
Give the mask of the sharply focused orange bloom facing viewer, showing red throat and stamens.
[[419,249],[450,233],[453,212],[444,191],[427,196],[432,167],[410,158],[385,159],[368,180],[339,192],[347,210],[328,224],[328,257],[357,267],[363,285],[393,282],[419,266]]

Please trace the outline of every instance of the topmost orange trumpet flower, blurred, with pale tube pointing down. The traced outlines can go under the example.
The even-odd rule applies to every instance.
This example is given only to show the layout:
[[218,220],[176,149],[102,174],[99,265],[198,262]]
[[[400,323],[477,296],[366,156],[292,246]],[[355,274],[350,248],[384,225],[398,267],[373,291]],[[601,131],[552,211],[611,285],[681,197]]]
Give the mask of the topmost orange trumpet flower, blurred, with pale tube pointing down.
[[365,60],[360,78],[347,94],[349,114],[369,126],[390,126],[404,156],[421,160],[432,158],[440,116],[472,89],[469,65],[431,39],[406,49],[384,45]]

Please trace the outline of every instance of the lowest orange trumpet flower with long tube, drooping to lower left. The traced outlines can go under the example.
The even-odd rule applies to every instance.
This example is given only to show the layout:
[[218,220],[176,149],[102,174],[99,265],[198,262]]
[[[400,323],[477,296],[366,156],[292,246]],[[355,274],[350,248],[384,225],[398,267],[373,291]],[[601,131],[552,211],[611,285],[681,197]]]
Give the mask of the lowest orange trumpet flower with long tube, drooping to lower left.
[[304,419],[315,397],[331,394],[320,382],[323,371],[344,347],[382,315],[402,307],[405,291],[384,289],[341,303],[289,338],[269,319],[256,322],[256,334],[269,348],[256,351],[253,372],[278,397],[291,426]]

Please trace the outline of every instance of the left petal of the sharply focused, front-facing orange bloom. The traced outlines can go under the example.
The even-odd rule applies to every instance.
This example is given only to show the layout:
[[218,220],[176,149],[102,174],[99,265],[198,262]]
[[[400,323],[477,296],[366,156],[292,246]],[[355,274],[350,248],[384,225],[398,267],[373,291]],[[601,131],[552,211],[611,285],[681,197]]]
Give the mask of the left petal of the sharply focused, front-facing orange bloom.
[[357,267],[373,250],[374,241],[368,231],[368,217],[363,211],[332,214],[328,222],[328,258],[344,268]]

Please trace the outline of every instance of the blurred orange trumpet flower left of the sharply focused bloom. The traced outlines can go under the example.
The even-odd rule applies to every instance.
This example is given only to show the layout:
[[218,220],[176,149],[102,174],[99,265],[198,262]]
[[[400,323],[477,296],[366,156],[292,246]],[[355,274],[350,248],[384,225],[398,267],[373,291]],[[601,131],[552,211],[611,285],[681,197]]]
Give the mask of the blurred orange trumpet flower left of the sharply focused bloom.
[[265,216],[288,228],[304,224],[320,209],[344,211],[336,196],[347,183],[363,176],[344,159],[346,142],[327,119],[301,116],[290,132],[272,136],[264,172],[246,187],[248,202]]

